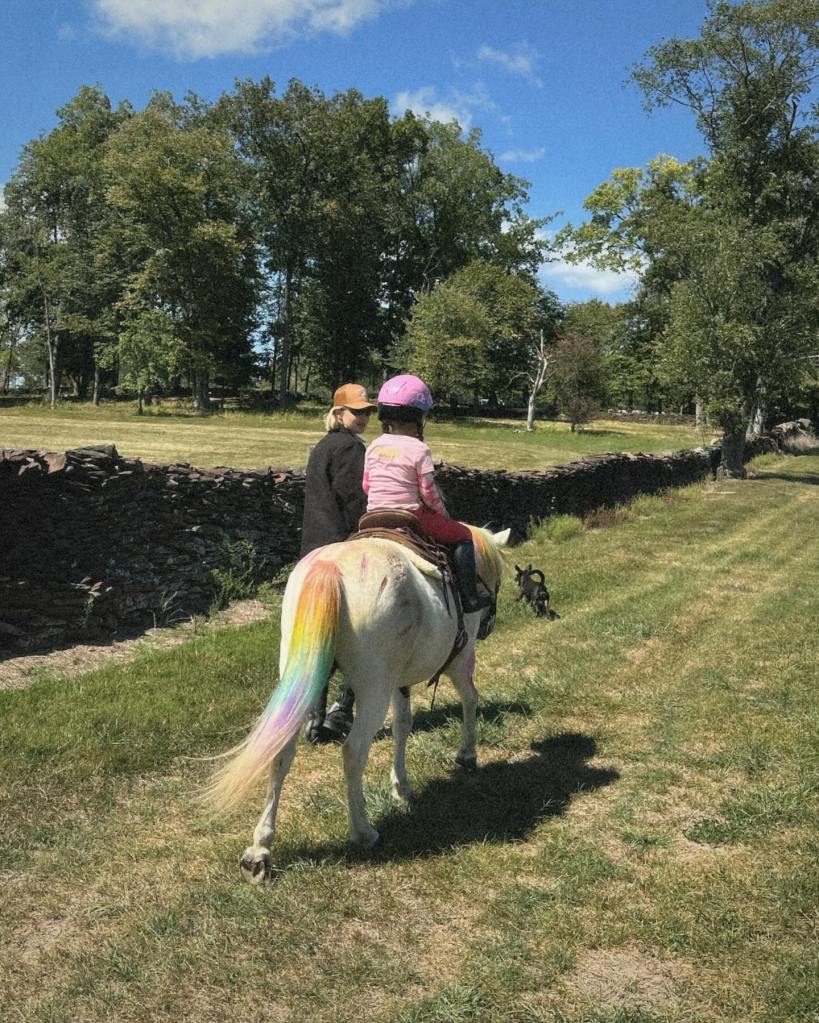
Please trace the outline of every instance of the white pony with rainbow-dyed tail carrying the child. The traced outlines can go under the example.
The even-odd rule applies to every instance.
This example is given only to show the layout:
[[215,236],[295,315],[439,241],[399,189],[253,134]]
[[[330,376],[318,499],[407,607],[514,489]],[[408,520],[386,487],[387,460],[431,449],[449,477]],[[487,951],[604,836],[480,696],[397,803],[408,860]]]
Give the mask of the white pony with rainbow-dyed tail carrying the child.
[[[503,563],[498,548],[509,530],[490,533],[469,527],[477,572],[493,593]],[[464,617],[466,646],[447,666],[463,705],[461,747],[456,757],[474,766],[477,692],[472,682],[474,642],[483,611]],[[240,866],[252,883],[270,873],[270,848],[284,779],[302,723],[313,709],[333,665],[356,695],[353,727],[343,747],[351,841],[373,845],[362,776],[375,733],[393,704],[395,754],[392,781],[397,799],[412,798],[405,751],[412,727],[406,686],[430,678],[450,656],[457,633],[451,592],[428,562],[393,540],[362,538],[319,547],[293,569],[281,612],[280,681],[247,737],[217,773],[208,795],[226,808],[268,773],[267,799],[253,845]],[[402,692],[403,691],[403,692]]]

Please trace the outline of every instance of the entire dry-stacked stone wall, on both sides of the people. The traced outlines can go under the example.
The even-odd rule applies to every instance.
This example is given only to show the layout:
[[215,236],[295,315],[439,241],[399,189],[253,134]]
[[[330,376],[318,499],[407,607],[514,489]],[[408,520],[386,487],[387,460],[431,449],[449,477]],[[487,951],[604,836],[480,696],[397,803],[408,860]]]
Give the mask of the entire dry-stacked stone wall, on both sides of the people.
[[[533,519],[700,480],[719,457],[719,448],[608,454],[522,473],[442,464],[439,479],[454,516],[519,538]],[[0,651],[204,612],[215,570],[270,579],[298,555],[304,478],[303,469],[153,465],[110,445],[0,451]]]

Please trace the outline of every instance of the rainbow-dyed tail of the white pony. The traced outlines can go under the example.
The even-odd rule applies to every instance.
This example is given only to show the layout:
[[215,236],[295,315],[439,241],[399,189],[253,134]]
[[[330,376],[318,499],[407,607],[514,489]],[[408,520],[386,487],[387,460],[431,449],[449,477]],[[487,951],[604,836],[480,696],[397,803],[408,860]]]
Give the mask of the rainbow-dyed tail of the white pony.
[[231,760],[217,771],[207,798],[218,809],[241,799],[292,739],[327,682],[335,657],[342,604],[338,567],[318,560],[308,570],[295,605],[287,661],[279,684]]

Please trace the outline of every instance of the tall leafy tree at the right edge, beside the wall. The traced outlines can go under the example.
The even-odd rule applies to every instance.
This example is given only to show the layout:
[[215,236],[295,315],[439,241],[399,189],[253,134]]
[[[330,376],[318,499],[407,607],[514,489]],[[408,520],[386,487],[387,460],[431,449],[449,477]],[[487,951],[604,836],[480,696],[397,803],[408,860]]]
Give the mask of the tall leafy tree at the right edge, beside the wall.
[[634,80],[649,108],[693,110],[710,159],[616,171],[562,237],[665,296],[662,372],[722,427],[733,476],[756,409],[799,389],[816,352],[817,25],[819,0],[716,2],[696,39],[653,47]]

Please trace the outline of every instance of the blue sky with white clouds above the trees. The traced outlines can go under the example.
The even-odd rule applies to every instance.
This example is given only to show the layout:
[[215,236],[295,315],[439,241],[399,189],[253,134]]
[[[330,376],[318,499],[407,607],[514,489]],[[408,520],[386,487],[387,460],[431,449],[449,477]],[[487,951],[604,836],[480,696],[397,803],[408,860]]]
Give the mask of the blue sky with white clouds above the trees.
[[[704,14],[704,0],[5,0],[0,183],[84,84],[141,106],[155,89],[215,98],[270,75],[479,127],[499,165],[532,183],[530,215],[577,222],[615,167],[702,151],[685,110],[649,116],[624,80]],[[542,275],[564,300],[629,294],[590,267]]]

